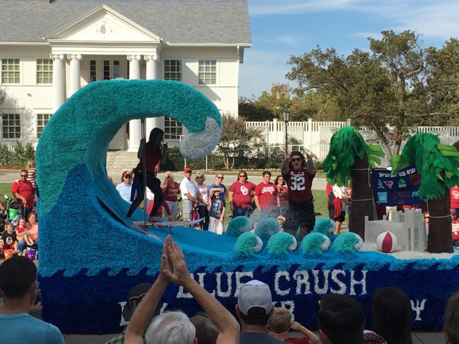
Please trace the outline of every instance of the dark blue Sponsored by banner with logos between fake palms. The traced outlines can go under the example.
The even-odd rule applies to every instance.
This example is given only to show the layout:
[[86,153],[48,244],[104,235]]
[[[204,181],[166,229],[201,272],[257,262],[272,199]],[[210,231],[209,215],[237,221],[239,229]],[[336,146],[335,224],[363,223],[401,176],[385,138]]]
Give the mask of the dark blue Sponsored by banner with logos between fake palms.
[[377,205],[416,205],[424,203],[419,198],[421,176],[416,167],[406,167],[394,175],[390,170],[371,170],[374,201]]

